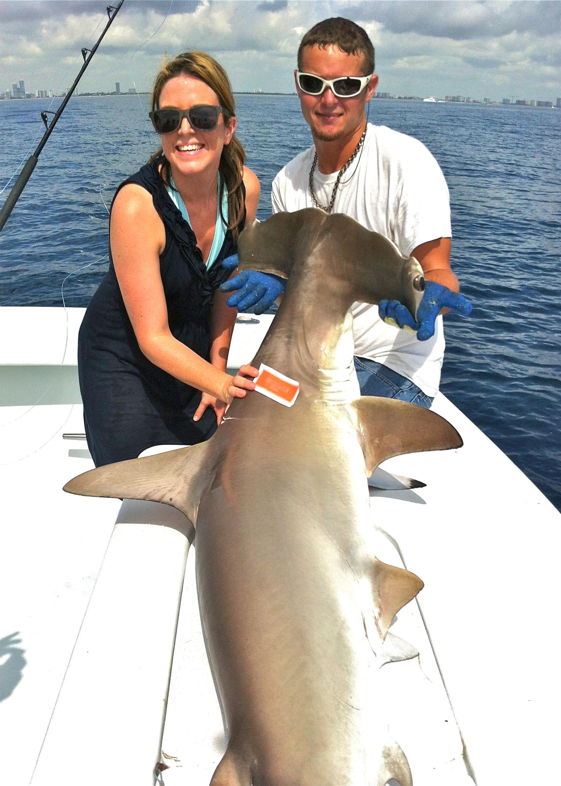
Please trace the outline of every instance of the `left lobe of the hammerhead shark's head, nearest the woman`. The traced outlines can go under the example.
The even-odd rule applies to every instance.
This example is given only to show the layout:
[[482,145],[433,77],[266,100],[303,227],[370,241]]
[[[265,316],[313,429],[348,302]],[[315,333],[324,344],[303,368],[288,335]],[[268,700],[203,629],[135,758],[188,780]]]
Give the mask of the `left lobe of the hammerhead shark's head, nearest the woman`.
[[295,259],[295,242],[302,246],[306,238],[314,237],[326,217],[324,211],[305,208],[293,213],[276,213],[262,223],[251,222],[240,234],[240,270],[259,270],[288,278]]

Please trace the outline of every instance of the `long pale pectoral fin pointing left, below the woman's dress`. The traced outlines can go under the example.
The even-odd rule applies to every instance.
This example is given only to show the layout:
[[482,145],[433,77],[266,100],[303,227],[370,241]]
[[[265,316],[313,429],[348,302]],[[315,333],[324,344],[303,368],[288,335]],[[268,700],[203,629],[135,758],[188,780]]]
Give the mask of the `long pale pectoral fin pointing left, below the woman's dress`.
[[196,524],[203,491],[222,460],[222,442],[170,450],[91,469],[68,481],[64,491],[86,497],[148,499],[177,508]]

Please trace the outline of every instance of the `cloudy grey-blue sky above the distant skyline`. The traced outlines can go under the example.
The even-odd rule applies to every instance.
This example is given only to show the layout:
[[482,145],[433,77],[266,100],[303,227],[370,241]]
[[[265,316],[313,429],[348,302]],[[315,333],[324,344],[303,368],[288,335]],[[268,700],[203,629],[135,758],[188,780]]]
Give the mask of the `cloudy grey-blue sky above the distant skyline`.
[[[108,20],[107,0],[0,0],[0,92],[61,90]],[[112,0],[116,5],[117,0]],[[347,17],[376,49],[378,90],[553,101],[561,97],[561,2],[125,0],[78,90],[152,89],[164,54],[211,53],[233,89],[291,93],[296,52],[317,21]]]

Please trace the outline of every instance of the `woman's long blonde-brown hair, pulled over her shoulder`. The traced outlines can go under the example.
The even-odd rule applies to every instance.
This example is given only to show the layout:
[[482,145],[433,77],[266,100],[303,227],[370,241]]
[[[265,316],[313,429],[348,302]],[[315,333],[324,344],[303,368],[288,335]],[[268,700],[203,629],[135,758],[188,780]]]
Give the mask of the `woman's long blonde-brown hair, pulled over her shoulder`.
[[[186,74],[195,76],[202,82],[207,84],[211,90],[218,97],[218,103],[222,108],[226,109],[227,115],[224,120],[229,117],[236,116],[236,105],[232,93],[232,86],[228,79],[228,75],[222,65],[214,60],[210,54],[206,52],[184,52],[174,57],[168,63],[165,57],[160,68],[159,74],[156,76],[154,89],[152,90],[152,112],[159,108],[159,97],[162,93],[163,86],[169,79],[174,76]],[[152,156],[150,161],[157,161],[162,164],[161,170],[165,174],[166,182],[171,182],[170,162],[163,155],[163,149],[159,148]],[[220,172],[220,194],[218,195],[218,209],[222,215],[222,196],[224,189],[228,193],[228,216],[222,215],[222,219],[226,223],[229,230],[232,230],[233,240],[237,242],[237,237],[240,234],[240,223],[244,220],[245,203],[244,192],[242,190],[242,182],[244,175],[244,161],[245,152],[241,145],[240,140],[233,134],[229,141],[229,145],[224,145],[222,148],[222,155],[220,156],[220,163],[218,164],[218,171]],[[226,221],[226,218],[228,219]]]

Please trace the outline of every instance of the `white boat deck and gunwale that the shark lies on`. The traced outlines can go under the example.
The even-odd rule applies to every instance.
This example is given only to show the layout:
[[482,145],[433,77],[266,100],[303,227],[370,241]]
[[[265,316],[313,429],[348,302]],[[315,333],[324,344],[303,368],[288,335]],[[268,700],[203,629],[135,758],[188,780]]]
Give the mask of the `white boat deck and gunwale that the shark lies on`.
[[[93,466],[82,317],[0,308],[2,782],[207,786],[224,736],[185,517],[62,491]],[[238,322],[229,369],[251,360],[271,320]],[[464,446],[383,465],[426,488],[371,491],[378,556],[425,584],[392,628],[420,663],[383,667],[386,692],[372,700],[414,786],[553,783],[561,516],[444,395],[433,409]]]

